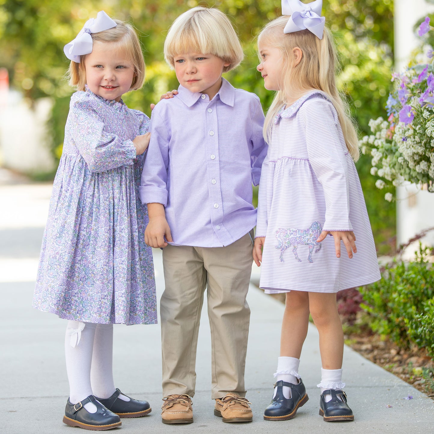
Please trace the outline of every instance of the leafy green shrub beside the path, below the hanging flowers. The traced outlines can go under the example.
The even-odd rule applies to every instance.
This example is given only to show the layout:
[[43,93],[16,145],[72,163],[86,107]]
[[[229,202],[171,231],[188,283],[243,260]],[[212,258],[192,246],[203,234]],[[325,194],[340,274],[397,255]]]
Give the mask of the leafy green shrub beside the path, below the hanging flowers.
[[401,348],[425,347],[434,358],[434,269],[426,262],[429,248],[419,248],[411,263],[385,266],[379,282],[362,287],[362,309],[371,328],[388,335]]

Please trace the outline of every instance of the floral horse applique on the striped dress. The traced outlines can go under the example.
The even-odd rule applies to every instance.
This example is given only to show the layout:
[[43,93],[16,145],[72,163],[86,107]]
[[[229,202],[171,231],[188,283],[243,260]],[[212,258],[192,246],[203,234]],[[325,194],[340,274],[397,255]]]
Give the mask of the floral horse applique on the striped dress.
[[307,257],[310,263],[313,263],[312,260],[312,252],[314,247],[318,247],[315,250],[315,253],[319,252],[321,249],[321,243],[318,243],[316,240],[322,232],[322,225],[314,221],[309,229],[298,229],[296,227],[279,228],[276,230],[276,238],[279,241],[279,244],[276,246],[276,249],[280,250],[280,262],[285,262],[283,260],[283,253],[289,247],[293,248],[293,253],[298,262],[301,262],[301,259],[297,255],[297,247],[302,244],[305,246],[309,246],[309,256]]

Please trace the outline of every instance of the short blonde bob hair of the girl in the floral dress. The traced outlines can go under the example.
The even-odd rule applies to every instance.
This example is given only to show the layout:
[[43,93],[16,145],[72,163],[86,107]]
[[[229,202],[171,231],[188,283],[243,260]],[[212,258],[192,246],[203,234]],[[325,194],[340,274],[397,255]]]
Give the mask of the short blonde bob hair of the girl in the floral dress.
[[[131,24],[123,21],[114,20],[117,24],[108,30],[103,30],[98,33],[91,33],[92,42],[111,43],[113,50],[119,50],[125,53],[126,58],[131,60],[134,66],[134,77],[131,84],[131,89],[137,90],[143,86],[145,82],[145,60],[141,51],[140,42],[137,33]],[[80,62],[71,60],[68,70],[69,85],[77,90],[85,90],[86,70],[85,60],[86,54],[80,56]]]

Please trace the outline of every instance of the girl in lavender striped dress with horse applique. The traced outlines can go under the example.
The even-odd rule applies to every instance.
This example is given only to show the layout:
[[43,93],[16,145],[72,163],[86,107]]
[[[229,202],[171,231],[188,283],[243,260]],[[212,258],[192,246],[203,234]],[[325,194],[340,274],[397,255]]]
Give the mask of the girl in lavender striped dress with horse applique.
[[380,279],[354,165],[357,134],[336,89],[335,47],[321,6],[321,0],[284,0],[284,16],[258,38],[257,69],[265,88],[277,92],[264,123],[269,148],[253,258],[258,266],[262,262],[260,287],[286,293],[281,357],[264,413],[270,421],[293,418],[308,400],[298,371],[309,313],[322,362],[319,414],[325,421],[354,420],[342,390],[344,338],[336,293]]

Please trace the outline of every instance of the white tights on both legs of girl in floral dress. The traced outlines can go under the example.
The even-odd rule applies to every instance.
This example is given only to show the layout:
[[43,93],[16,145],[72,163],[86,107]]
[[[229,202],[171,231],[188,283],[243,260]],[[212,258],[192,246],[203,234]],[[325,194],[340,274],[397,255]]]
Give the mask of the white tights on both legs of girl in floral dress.
[[[69,321],[65,336],[66,372],[69,380],[69,401],[76,404],[94,395],[109,398],[115,392],[113,381],[113,324]],[[119,395],[124,401],[130,399]],[[124,399],[125,398],[125,399]],[[95,413],[92,403],[85,404]]]

